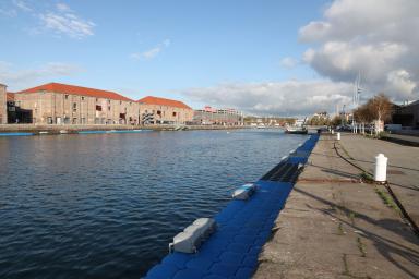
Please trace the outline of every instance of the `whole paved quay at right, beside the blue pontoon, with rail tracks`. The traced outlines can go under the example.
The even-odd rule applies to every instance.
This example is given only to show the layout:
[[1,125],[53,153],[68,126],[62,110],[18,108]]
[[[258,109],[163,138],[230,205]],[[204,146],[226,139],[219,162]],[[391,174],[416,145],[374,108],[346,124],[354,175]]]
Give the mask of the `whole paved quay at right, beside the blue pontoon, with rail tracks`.
[[418,235],[384,185],[362,182],[361,169],[372,172],[379,153],[388,157],[388,185],[417,223],[419,148],[335,138],[320,137],[253,278],[418,278]]

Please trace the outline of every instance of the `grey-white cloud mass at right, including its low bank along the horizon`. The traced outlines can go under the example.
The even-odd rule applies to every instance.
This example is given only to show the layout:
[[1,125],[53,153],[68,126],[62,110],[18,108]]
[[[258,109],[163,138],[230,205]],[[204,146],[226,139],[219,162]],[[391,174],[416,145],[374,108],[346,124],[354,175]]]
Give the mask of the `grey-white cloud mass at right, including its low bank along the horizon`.
[[[361,74],[362,98],[385,93],[395,101],[419,98],[419,1],[335,0],[322,19],[299,29],[309,47],[301,60],[323,81],[222,84],[183,90],[189,98],[254,114],[311,114],[350,107]],[[294,68],[298,60],[284,58]]]

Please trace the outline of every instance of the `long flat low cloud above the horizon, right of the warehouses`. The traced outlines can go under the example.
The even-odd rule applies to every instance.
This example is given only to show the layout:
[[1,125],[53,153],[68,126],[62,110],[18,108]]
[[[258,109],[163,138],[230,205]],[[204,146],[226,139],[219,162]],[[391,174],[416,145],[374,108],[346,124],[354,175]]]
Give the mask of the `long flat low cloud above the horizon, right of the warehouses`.
[[350,104],[351,93],[351,84],[330,81],[231,83],[181,92],[192,101],[265,116],[309,116],[315,111],[334,111],[336,105]]

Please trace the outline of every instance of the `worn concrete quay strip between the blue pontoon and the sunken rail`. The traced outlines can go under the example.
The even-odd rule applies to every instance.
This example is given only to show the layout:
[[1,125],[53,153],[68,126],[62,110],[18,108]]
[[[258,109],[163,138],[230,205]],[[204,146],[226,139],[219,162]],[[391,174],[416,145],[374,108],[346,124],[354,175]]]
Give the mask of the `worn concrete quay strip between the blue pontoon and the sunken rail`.
[[334,143],[319,140],[253,278],[418,278],[418,238]]

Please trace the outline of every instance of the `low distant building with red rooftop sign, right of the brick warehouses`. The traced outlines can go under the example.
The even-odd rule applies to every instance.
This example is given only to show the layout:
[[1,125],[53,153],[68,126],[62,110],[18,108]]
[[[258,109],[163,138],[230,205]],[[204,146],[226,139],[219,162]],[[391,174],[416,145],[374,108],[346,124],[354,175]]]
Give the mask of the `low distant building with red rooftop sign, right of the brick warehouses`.
[[194,111],[193,122],[202,125],[243,125],[243,113],[236,109],[215,109],[206,106]]

